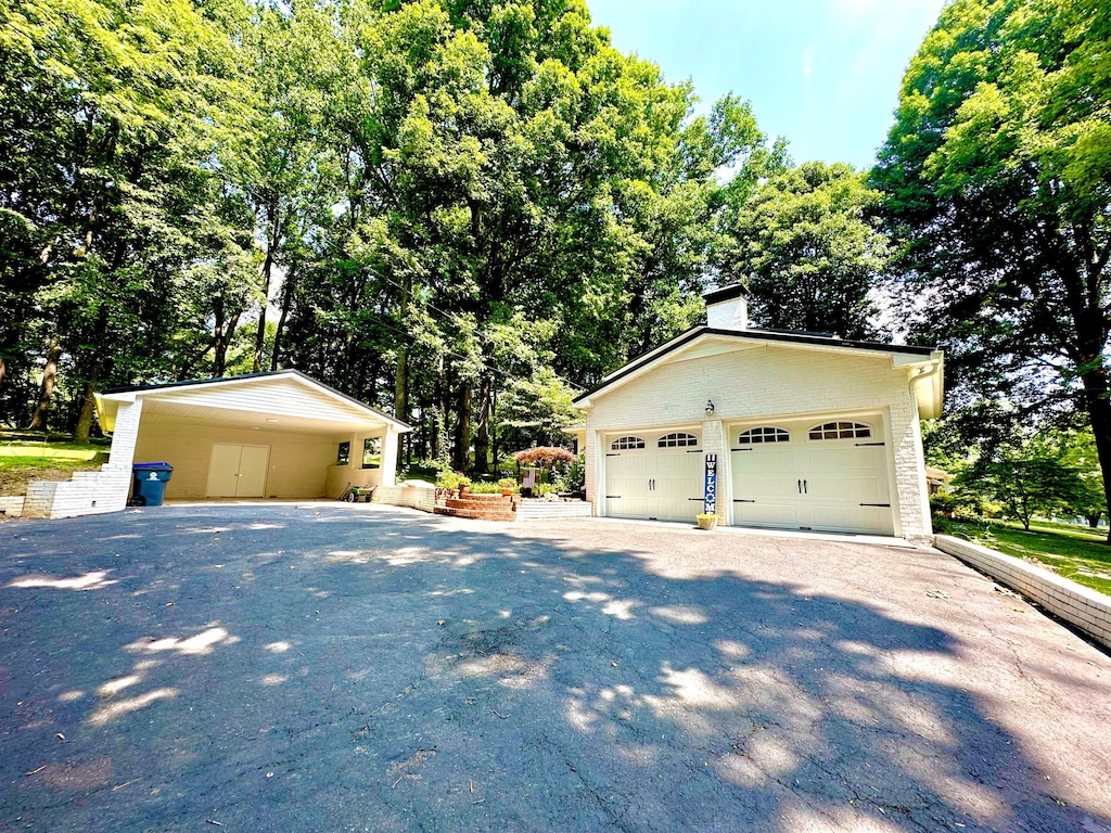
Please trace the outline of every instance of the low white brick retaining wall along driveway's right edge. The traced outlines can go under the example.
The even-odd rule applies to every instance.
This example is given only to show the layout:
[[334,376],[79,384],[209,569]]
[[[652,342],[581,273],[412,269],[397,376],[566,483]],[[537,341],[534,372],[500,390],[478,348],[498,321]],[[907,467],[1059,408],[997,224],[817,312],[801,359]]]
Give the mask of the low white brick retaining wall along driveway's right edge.
[[1005,584],[1097,642],[1111,648],[1111,598],[971,541],[935,535],[933,545],[987,573],[1000,584]]

